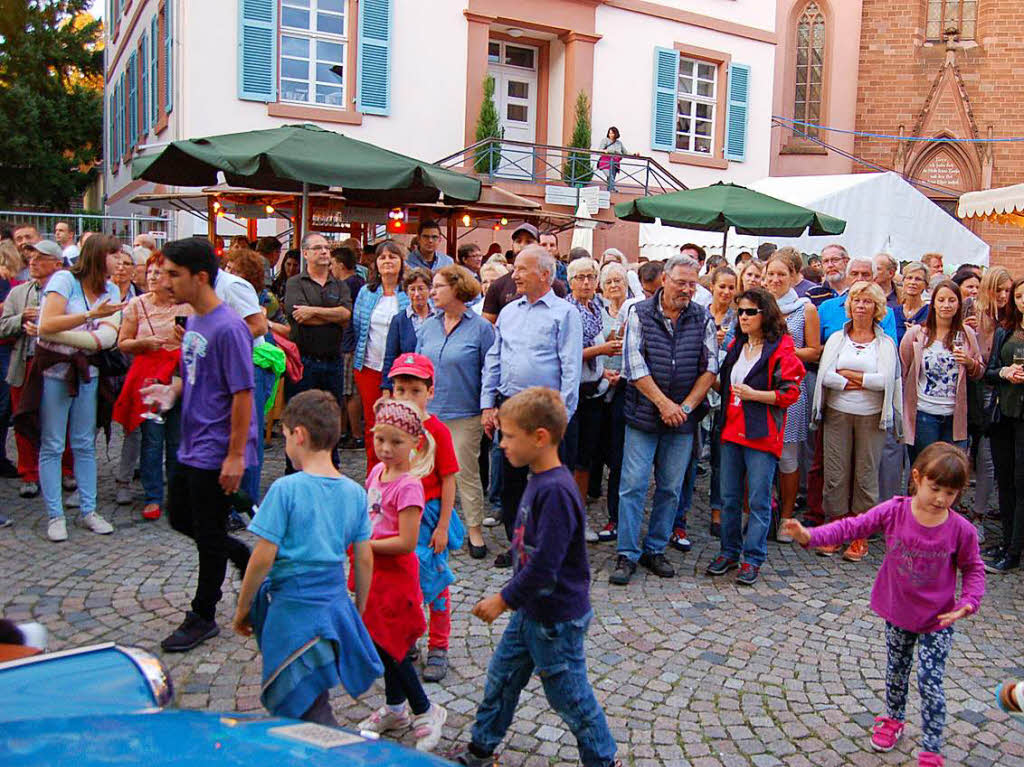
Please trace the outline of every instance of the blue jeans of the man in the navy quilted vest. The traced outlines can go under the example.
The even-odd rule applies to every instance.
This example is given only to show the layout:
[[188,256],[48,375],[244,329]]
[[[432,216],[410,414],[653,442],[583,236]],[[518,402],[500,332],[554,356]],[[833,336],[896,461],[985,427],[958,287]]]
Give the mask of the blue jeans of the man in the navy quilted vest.
[[651,434],[626,426],[623,478],[618,491],[618,554],[640,558],[640,525],[647,498],[650,467],[654,467],[654,503],[643,551],[664,554],[679,508],[679,493],[693,452],[693,434]]

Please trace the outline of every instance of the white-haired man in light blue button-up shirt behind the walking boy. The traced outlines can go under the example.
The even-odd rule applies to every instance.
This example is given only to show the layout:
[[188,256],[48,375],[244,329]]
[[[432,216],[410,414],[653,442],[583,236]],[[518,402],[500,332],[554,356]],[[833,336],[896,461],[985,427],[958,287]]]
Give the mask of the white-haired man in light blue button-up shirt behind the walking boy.
[[[488,435],[498,426],[501,403],[530,386],[561,392],[569,418],[580,396],[583,322],[579,310],[551,289],[555,259],[542,246],[528,245],[516,256],[512,279],[519,297],[498,315],[495,342],[483,363],[480,408]],[[509,541],[527,471],[502,456],[502,522]],[[511,553],[500,554],[495,566],[512,566]]]

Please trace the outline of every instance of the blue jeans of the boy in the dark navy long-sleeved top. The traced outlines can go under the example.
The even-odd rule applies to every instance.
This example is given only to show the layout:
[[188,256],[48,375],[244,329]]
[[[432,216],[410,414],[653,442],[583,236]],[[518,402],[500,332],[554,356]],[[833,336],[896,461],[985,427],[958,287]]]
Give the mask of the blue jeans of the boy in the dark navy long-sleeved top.
[[615,758],[615,741],[587,679],[584,638],[593,612],[575,621],[541,624],[522,610],[512,613],[487,666],[483,700],[473,723],[473,745],[493,754],[505,737],[519,694],[534,671],[551,708],[575,735],[585,767],[604,767]]

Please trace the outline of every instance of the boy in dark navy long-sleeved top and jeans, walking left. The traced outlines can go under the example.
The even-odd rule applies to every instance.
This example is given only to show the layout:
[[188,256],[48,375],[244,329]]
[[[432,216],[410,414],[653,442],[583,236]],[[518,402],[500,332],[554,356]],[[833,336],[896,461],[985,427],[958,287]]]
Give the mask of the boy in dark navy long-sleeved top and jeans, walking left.
[[469,745],[452,758],[473,767],[495,761],[536,670],[548,702],[575,735],[584,766],[620,765],[587,678],[584,638],[593,615],[587,520],[572,474],[558,459],[568,414],[557,391],[535,386],[505,400],[499,418],[505,457],[517,468],[528,466],[530,475],[513,528],[512,580],[480,600],[473,614],[489,624],[515,612],[487,667]]

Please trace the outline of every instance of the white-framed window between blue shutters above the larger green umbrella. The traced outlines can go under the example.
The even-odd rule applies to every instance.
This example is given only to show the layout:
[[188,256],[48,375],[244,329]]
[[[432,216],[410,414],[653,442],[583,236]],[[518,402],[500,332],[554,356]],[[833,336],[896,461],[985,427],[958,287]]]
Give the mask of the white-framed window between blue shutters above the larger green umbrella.
[[348,0],[281,0],[281,98],[345,105]]

